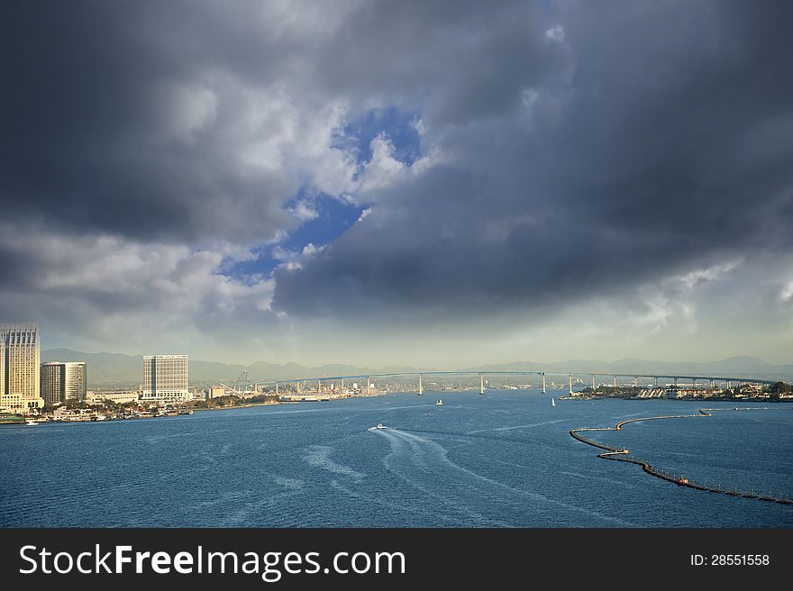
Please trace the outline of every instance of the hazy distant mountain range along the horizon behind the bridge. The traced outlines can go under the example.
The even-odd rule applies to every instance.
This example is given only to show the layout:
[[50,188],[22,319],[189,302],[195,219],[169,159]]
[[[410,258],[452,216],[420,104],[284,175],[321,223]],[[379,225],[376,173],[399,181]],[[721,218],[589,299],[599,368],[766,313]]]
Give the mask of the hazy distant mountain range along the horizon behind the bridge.
[[[70,349],[41,351],[42,361],[86,361],[88,365],[88,387],[119,386],[137,387],[141,383],[143,359],[141,355],[120,353],[83,353]],[[217,384],[234,381],[248,370],[249,379],[265,381],[290,377],[333,377],[383,373],[414,373],[433,371],[433,368],[388,366],[386,368],[363,368],[342,364],[326,364],[305,367],[297,363],[278,365],[257,361],[250,366],[220,363],[217,361],[189,360],[191,386]],[[515,361],[513,363],[480,365],[460,368],[461,371],[548,371],[548,372],[596,372],[601,374],[679,374],[718,375],[725,377],[760,377],[763,379],[793,379],[793,365],[771,365],[754,357],[733,357],[706,363],[653,361],[650,359],[619,359],[608,363],[591,359],[571,359],[559,363],[536,363]]]

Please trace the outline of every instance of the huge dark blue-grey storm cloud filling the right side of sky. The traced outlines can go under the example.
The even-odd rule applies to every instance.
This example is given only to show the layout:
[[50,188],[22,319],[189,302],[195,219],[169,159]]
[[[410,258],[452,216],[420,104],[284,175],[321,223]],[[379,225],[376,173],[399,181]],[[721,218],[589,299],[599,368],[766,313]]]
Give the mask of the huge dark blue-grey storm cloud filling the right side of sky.
[[[430,83],[424,111],[451,159],[375,195],[369,217],[303,268],[280,269],[278,308],[432,318],[542,310],[790,248],[789,6],[558,10],[562,29],[549,34],[515,14],[505,21],[534,37],[514,48],[525,58],[499,59],[492,28],[462,59],[427,53],[454,72]],[[537,56],[552,57],[557,75],[517,67]],[[483,84],[507,81],[483,86],[493,90],[487,106],[487,92],[468,101],[472,85],[460,82],[485,71]],[[465,117],[444,116],[445,100],[452,114],[466,105]]]

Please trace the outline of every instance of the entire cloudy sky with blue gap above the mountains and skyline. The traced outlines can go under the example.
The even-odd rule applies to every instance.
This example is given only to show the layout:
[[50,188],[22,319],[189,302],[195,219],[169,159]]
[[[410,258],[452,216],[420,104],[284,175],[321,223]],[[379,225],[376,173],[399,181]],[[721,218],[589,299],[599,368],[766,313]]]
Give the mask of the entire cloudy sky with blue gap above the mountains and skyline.
[[0,320],[44,348],[791,360],[790,3],[0,12]]

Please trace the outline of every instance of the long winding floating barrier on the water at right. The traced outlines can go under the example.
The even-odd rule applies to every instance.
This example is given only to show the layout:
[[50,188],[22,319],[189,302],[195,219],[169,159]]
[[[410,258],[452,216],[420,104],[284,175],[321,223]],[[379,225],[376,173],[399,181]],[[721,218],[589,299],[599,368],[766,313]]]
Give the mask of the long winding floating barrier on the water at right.
[[[732,411],[750,411],[750,410],[768,410],[767,408],[734,408]],[[672,482],[678,486],[688,486],[688,488],[696,488],[697,490],[706,491],[709,493],[718,493],[727,496],[743,496],[743,498],[750,498],[750,499],[759,499],[761,501],[769,501],[771,503],[779,503],[781,505],[791,505],[793,501],[791,501],[787,496],[782,498],[778,496],[772,495],[761,495],[754,492],[745,492],[739,490],[730,490],[722,488],[721,486],[708,486],[699,484],[697,482],[692,481],[688,477],[683,477],[682,475],[673,475],[665,470],[660,468],[654,468],[649,462],[644,461],[643,459],[638,458],[631,458],[630,450],[626,450],[624,448],[616,448],[611,445],[606,445],[605,443],[600,443],[598,441],[594,441],[588,439],[581,435],[581,432],[590,432],[590,431],[620,431],[623,425],[628,423],[639,423],[641,421],[660,421],[663,419],[690,419],[690,418],[706,418],[709,416],[713,416],[714,412],[731,412],[730,409],[716,409],[716,408],[700,408],[697,414],[666,414],[662,416],[648,416],[639,419],[629,419],[627,421],[621,421],[620,423],[616,423],[614,427],[587,427],[582,429],[571,429],[570,436],[582,443],[586,443],[587,445],[591,445],[593,448],[597,448],[598,450],[605,450],[603,453],[597,455],[598,458],[602,459],[613,459],[615,461],[624,461],[630,464],[636,464],[637,466],[641,466],[643,471],[651,476],[661,478],[661,480],[666,480],[667,482]]]

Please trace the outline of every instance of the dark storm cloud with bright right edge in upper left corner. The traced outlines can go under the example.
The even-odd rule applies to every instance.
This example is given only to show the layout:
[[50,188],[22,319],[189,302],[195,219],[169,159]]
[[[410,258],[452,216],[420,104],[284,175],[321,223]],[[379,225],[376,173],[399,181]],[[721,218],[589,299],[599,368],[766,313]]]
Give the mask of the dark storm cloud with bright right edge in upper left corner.
[[224,133],[237,97],[211,76],[244,72],[257,85],[278,58],[259,42],[246,58],[258,71],[233,61],[251,27],[234,37],[223,14],[193,3],[5,3],[6,219],[166,241],[266,239],[288,226],[280,204],[295,186],[239,166],[237,138]]

